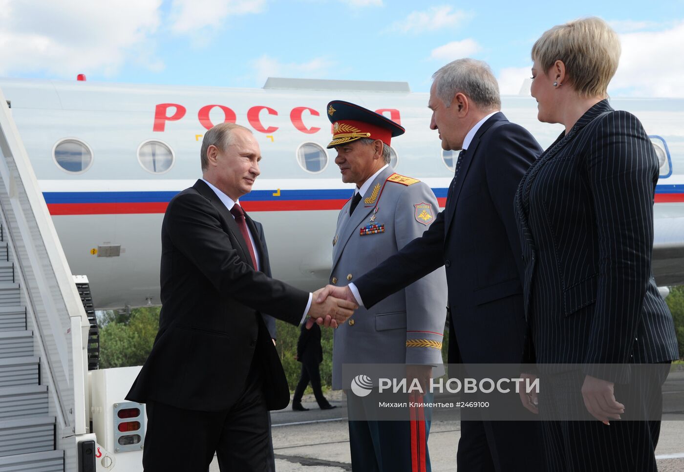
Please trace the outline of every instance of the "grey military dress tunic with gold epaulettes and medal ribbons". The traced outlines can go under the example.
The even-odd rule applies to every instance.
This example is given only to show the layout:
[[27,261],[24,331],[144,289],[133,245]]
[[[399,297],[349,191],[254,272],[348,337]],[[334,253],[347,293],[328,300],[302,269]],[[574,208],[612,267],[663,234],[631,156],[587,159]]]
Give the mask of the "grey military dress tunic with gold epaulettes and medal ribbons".
[[[376,176],[351,216],[350,202],[339,213],[333,239],[329,283],[338,286],[353,282],[421,236],[439,211],[427,184],[395,174],[389,166]],[[377,226],[366,229],[369,225]],[[350,363],[433,365],[438,367],[435,375],[443,373],[446,304],[447,281],[440,267],[371,309],[360,307],[334,330],[332,388],[349,388],[342,384],[342,365]]]

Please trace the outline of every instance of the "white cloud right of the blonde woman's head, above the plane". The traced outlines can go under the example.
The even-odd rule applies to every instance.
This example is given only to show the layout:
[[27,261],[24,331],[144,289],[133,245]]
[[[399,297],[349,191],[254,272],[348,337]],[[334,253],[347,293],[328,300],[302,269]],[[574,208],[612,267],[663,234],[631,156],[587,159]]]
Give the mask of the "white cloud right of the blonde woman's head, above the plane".
[[621,34],[620,41],[622,56],[610,94],[684,97],[684,21],[661,31]]

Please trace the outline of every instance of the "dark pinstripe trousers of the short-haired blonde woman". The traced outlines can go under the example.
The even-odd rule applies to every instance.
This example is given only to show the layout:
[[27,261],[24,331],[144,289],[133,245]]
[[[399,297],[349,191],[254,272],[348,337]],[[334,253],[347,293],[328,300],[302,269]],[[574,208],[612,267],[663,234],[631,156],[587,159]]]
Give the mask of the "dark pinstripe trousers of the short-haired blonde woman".
[[[615,398],[624,404],[624,413],[620,415],[621,420],[611,419],[610,425],[591,417],[583,406],[583,373],[542,376],[539,397],[542,419],[558,414],[559,408],[563,417],[583,415],[585,419],[542,423],[549,470],[656,472],[655,447],[663,410],[662,385],[669,371],[670,363],[632,365],[632,382],[614,386]],[[549,408],[553,410],[549,411]]]

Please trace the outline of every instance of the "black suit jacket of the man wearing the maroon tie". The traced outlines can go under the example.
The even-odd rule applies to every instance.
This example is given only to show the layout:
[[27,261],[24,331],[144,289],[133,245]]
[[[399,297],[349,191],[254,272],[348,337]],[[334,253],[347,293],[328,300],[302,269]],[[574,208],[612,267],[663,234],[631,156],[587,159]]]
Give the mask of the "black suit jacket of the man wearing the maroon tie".
[[[267,266],[265,250],[257,250]],[[296,326],[307,302],[308,293],[254,270],[233,216],[197,181],[170,201],[164,215],[159,332],[127,399],[226,410],[255,363],[267,405],[285,408],[287,380],[260,312]]]

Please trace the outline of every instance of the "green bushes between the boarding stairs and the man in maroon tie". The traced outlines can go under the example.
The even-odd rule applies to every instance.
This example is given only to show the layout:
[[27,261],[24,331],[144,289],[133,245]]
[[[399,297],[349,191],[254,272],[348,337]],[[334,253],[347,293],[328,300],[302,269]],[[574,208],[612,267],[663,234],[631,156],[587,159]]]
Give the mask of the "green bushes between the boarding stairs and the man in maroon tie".
[[100,367],[142,365],[152,350],[159,330],[159,306],[136,308],[130,317],[103,315],[100,317]]

